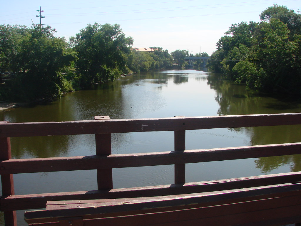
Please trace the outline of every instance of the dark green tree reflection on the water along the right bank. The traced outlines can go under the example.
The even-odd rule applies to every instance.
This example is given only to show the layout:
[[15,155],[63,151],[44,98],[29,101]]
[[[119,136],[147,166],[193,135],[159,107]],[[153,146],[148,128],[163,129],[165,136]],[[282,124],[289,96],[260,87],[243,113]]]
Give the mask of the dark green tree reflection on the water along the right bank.
[[[216,102],[219,103],[218,115],[249,115],[298,112],[299,108],[278,100],[248,93],[245,86],[223,80],[219,74],[207,77],[210,88],[216,90]],[[281,106],[281,108],[279,108]],[[275,127],[231,128],[250,136],[251,145],[300,142],[301,126],[287,125]],[[301,170],[301,155],[285,155],[258,158],[256,168],[268,173],[283,165],[290,165],[291,171]]]

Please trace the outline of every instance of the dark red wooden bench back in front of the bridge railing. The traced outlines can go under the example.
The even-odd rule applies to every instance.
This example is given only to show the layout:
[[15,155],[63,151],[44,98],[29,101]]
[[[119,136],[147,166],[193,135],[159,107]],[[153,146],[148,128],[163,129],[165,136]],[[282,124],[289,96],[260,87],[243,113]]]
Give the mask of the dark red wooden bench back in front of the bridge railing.
[[[244,191],[242,191],[244,193]],[[279,194],[279,193],[277,193]],[[232,193],[231,195],[236,195]],[[281,195],[281,193],[280,193]],[[216,194],[215,198],[218,198]],[[291,195],[286,197],[262,195],[258,199],[250,199],[242,202],[224,203],[221,205],[193,205],[176,207],[152,207],[147,210],[144,206],[148,206],[151,202],[148,200],[142,201],[138,205],[136,203],[126,203],[123,206],[126,209],[135,209],[133,211],[122,211],[119,208],[121,205],[116,206],[117,213],[98,213],[101,212],[102,206],[74,208],[70,209],[46,209],[36,212],[25,213],[27,222],[45,222],[41,225],[45,226],[62,226],[62,225],[131,225],[131,226],[182,226],[182,225],[228,225],[228,226],[258,226],[269,225],[279,226],[284,224],[291,224],[299,222],[301,216],[299,210],[301,208],[299,198],[300,195]],[[174,200],[176,197],[174,198]],[[181,199],[178,202],[181,203]],[[192,201],[192,200],[191,200]],[[164,204],[165,200],[157,200],[158,203]],[[193,201],[192,201],[193,202]],[[63,202],[64,203],[64,202]],[[209,202],[213,204],[215,202]],[[220,203],[220,202],[219,202]],[[156,203],[157,204],[157,203]],[[48,207],[48,206],[47,206]],[[142,209],[139,209],[142,207]],[[178,207],[178,208],[177,208]],[[186,207],[186,209],[185,209]],[[99,208],[99,209],[98,209]],[[111,208],[108,208],[111,209]],[[138,210],[137,210],[138,209]],[[60,218],[59,216],[77,215],[76,217]],[[88,214],[85,214],[87,213]],[[57,215],[56,215],[57,213]],[[91,214],[92,213],[92,214]],[[42,217],[41,217],[42,216]],[[55,216],[55,217],[53,217]],[[80,216],[80,217],[78,217]],[[106,217],[108,216],[108,217]],[[256,217],[254,217],[256,216]],[[222,224],[221,224],[222,223]],[[31,224],[30,224],[31,225]],[[38,224],[33,224],[38,225]]]

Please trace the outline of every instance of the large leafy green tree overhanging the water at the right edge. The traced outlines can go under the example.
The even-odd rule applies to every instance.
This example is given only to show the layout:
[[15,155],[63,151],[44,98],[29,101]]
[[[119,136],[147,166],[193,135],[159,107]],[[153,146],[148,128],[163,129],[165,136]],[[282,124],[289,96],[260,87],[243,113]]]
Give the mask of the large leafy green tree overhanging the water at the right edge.
[[[279,19],[271,18],[268,23],[262,22],[256,45],[252,48],[242,44],[239,49],[234,47],[222,64],[226,68],[228,59],[237,59],[233,71],[227,73],[233,75],[235,82],[247,83],[251,89],[297,94],[300,92],[301,79],[300,63],[295,58],[299,58],[300,45],[289,40],[289,33],[287,25]],[[248,59],[259,60],[248,62]]]

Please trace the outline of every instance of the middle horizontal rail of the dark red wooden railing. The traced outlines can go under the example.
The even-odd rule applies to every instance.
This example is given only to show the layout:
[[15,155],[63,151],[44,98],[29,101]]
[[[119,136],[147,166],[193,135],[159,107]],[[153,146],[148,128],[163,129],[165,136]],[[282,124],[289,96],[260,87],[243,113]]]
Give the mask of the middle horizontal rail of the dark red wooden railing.
[[186,150],[184,152],[171,151],[102,156],[9,159],[0,162],[0,174],[173,165],[294,154],[301,154],[301,143]]

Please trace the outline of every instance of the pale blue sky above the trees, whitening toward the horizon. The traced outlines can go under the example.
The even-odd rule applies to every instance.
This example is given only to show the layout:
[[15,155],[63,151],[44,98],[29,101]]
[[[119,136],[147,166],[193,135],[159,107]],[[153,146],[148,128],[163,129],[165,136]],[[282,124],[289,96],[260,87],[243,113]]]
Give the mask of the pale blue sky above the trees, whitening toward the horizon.
[[301,0],[0,0],[0,24],[39,24],[41,7],[42,24],[67,41],[87,24],[120,24],[135,40],[133,47],[211,55],[231,24],[259,22],[259,14],[273,4],[301,9]]

